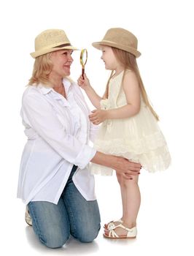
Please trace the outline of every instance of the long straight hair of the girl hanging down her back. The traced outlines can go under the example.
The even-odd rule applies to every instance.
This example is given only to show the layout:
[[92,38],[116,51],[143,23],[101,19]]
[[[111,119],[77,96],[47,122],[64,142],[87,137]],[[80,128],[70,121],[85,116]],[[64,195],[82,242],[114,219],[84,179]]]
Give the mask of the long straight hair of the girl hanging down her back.
[[[136,74],[136,78],[138,80],[139,88],[140,88],[141,95],[143,97],[145,105],[147,105],[147,107],[150,108],[150,111],[152,112],[153,116],[155,116],[156,120],[159,121],[158,114],[152,108],[152,105],[150,104],[150,101],[147,97],[147,92],[144,88],[144,83],[141,80],[141,75],[139,73],[139,68],[138,68],[138,65],[136,63],[136,57],[133,54],[126,52],[125,50],[120,50],[120,49],[112,47],[112,51],[115,54],[115,57],[116,57],[117,61],[119,61],[120,64],[122,64],[124,69],[125,69],[124,72],[123,72],[122,84],[123,84],[123,80],[125,78],[126,69],[130,69],[132,72],[134,72]],[[113,73],[114,73],[114,71],[111,72],[109,80],[106,84],[106,91],[104,93],[104,98],[108,98],[108,96],[109,96],[109,81],[112,78]]]

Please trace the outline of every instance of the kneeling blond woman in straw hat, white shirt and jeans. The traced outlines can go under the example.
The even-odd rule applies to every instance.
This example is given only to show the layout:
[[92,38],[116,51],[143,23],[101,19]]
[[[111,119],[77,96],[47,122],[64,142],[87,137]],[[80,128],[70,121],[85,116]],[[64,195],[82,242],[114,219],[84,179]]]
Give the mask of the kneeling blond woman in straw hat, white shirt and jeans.
[[88,146],[96,127],[79,86],[68,78],[73,50],[63,30],[36,37],[34,71],[21,108],[28,141],[18,197],[28,206],[39,241],[50,248],[63,246],[70,235],[82,242],[98,235],[100,214],[89,162],[112,167],[125,178],[141,168]]

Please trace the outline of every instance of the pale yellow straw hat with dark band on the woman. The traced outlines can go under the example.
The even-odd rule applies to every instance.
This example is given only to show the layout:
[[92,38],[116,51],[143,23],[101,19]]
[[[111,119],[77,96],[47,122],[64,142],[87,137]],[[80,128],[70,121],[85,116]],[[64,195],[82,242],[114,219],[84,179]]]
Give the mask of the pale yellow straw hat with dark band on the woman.
[[71,45],[66,33],[61,29],[47,29],[35,38],[35,52],[33,58],[52,53],[55,50],[78,50]]

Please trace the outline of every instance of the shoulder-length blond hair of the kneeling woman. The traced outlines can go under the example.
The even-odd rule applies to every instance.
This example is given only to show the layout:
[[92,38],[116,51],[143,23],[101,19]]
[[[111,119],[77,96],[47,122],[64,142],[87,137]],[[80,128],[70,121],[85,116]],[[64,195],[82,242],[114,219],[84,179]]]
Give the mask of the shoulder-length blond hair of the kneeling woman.
[[29,79],[29,85],[44,83],[49,84],[49,75],[53,69],[53,63],[50,59],[51,53],[39,56],[34,61],[34,69]]

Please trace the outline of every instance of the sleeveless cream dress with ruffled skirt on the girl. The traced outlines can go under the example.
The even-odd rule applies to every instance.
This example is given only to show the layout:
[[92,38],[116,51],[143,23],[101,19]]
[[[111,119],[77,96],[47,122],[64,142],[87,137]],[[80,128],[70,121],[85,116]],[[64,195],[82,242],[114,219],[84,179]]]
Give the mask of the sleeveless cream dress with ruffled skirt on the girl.
[[[101,100],[101,109],[120,108],[127,104],[121,87],[123,72],[109,82],[109,97]],[[94,148],[106,154],[125,157],[140,162],[150,172],[166,170],[171,162],[166,140],[158,127],[155,116],[142,97],[141,108],[136,116],[121,119],[107,119],[101,124]],[[112,169],[90,164],[93,174],[112,175]]]

